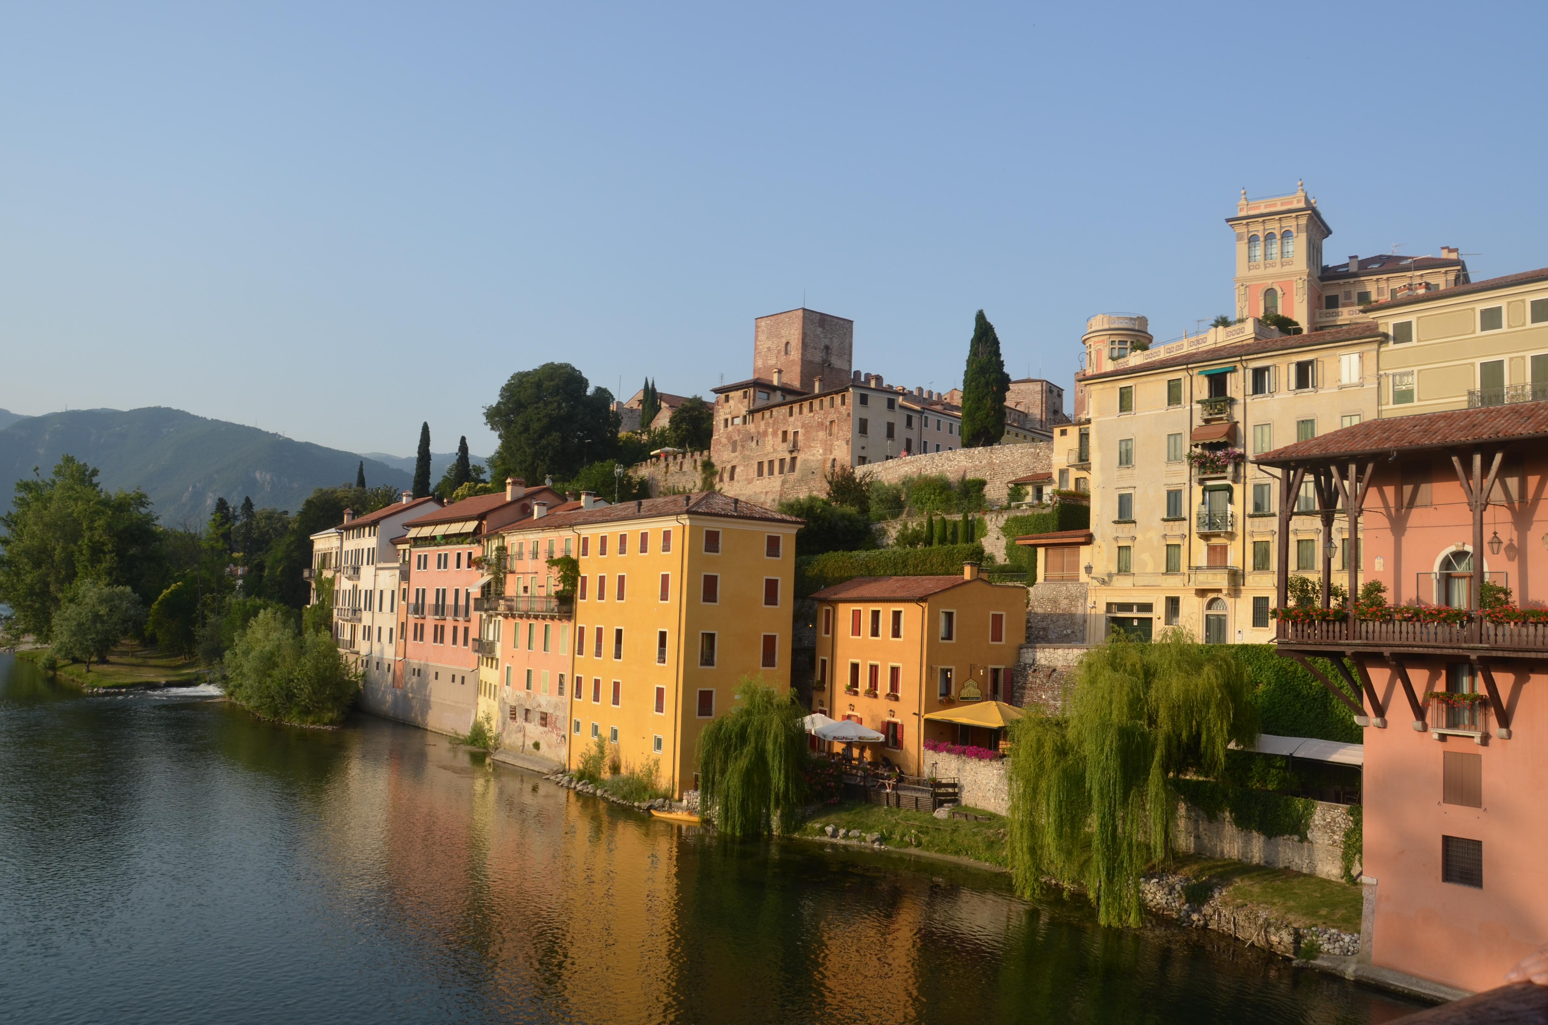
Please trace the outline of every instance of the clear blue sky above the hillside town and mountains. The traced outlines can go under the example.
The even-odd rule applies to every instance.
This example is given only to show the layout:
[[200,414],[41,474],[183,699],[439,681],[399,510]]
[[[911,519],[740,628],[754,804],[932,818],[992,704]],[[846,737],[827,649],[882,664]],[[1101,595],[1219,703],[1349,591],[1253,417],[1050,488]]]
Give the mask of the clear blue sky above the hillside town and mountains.
[[960,381],[977,308],[1231,311],[1241,187],[1330,259],[1548,265],[1519,5],[71,5],[0,11],[0,407],[435,449],[550,359],[707,392],[752,319]]

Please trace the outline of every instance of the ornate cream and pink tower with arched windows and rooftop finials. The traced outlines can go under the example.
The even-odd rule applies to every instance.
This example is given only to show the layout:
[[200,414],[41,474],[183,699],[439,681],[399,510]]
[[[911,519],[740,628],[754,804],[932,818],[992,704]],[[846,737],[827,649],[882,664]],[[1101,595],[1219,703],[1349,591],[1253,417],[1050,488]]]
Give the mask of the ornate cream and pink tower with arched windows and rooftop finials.
[[1322,240],[1333,234],[1296,183],[1289,195],[1249,200],[1241,190],[1237,215],[1228,217],[1237,234],[1235,316],[1262,317],[1279,313],[1314,330],[1322,308]]

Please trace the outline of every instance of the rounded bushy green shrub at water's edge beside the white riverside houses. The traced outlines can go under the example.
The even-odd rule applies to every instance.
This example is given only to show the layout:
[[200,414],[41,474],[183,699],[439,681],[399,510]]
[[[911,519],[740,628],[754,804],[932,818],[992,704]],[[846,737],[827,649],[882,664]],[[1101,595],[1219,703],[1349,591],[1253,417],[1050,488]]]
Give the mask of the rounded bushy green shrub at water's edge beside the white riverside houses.
[[226,697],[265,718],[336,725],[361,691],[333,638],[262,610],[226,653]]

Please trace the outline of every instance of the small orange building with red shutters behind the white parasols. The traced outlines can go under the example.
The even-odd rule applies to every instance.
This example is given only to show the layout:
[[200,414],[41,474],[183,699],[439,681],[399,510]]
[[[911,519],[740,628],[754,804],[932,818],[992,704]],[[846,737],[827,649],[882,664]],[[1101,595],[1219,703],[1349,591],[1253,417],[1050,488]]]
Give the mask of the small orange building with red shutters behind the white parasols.
[[924,740],[994,746],[995,731],[926,723],[963,701],[1009,701],[1026,639],[1026,588],[961,576],[862,576],[817,601],[813,704],[885,735],[879,752],[921,776]]

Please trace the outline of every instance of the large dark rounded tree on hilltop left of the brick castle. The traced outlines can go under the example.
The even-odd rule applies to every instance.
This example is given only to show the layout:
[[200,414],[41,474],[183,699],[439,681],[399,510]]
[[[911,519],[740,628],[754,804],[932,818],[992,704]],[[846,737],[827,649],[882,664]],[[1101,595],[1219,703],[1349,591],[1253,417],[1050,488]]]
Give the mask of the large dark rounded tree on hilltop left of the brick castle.
[[613,393],[591,389],[567,362],[522,370],[485,407],[485,423],[500,437],[491,463],[494,480],[568,480],[588,461],[618,452],[619,417]]

